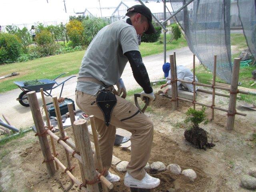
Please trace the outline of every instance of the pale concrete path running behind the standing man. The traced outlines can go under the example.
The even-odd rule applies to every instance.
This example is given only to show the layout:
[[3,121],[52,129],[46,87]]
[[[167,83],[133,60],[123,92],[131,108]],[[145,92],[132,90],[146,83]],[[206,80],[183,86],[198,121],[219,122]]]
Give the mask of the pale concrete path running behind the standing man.
[[[190,52],[188,47],[168,51],[166,53],[166,61],[169,61],[169,54],[173,54],[173,52],[176,52],[176,62],[177,65],[184,65],[188,68],[193,67],[193,54]],[[164,54],[156,54],[152,56],[146,56],[143,58],[143,62],[147,68],[148,75],[151,81],[162,79],[163,78],[163,72],[162,72],[162,65],[164,63]],[[82,58],[81,58],[82,60]],[[196,64],[198,64],[199,61],[196,60]],[[58,82],[62,82],[65,80],[65,78],[58,79]],[[132,69],[130,68],[130,64],[126,65],[126,68],[124,69],[124,72],[122,74],[122,79],[124,81],[124,84],[126,86],[127,90],[134,89],[140,87],[137,82],[134,80],[134,77],[132,75]],[[75,99],[75,88],[76,88],[76,78],[72,78],[64,85],[64,90],[62,92],[62,97],[67,97],[71,99]],[[59,97],[61,88],[56,88],[52,91],[53,96]],[[31,126],[34,124],[32,115],[30,112],[30,107],[24,107],[20,105],[18,101],[16,101],[16,98],[18,98],[19,94],[22,91],[20,89],[15,89],[12,91],[8,91],[5,93],[0,94],[0,108],[1,112],[0,115],[3,113],[9,120],[10,123],[17,128],[27,128],[28,126]],[[41,94],[37,93],[38,101],[40,106],[42,106],[42,98]],[[52,102],[51,97],[46,97],[46,103]],[[76,107],[77,108],[77,107]],[[2,118],[2,115],[1,115]]]

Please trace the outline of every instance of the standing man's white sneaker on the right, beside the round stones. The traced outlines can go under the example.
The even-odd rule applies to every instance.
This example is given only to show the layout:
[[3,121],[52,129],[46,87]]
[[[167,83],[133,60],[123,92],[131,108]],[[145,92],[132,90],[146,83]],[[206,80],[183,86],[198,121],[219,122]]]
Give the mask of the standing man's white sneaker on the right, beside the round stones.
[[152,189],[160,184],[160,179],[154,178],[146,173],[142,180],[137,180],[126,172],[124,176],[124,185],[127,187]]

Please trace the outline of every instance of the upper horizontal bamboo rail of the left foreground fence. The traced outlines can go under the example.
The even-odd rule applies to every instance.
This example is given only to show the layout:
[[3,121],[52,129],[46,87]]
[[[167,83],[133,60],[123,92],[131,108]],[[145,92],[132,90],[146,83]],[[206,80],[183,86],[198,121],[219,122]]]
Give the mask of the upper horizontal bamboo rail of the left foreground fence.
[[[48,133],[52,138],[54,138],[55,140],[58,140],[58,139],[59,139],[59,137],[56,136],[51,130],[48,130],[47,128],[45,128],[45,130],[47,130],[47,133]],[[68,153],[72,155],[72,153],[74,152],[74,150],[73,150],[68,144],[66,144],[66,143],[65,143],[64,141],[62,141],[62,140],[59,141],[59,144],[61,144],[61,145],[68,151]],[[75,153],[75,154],[74,154],[74,157],[75,157],[80,163],[82,163],[82,158],[81,158],[80,155],[78,155],[77,153]],[[100,175],[100,173],[99,173],[98,171],[96,171],[96,173],[97,173],[97,176]],[[104,176],[101,176],[101,177],[100,177],[100,181],[101,181],[102,183],[104,183],[109,189],[112,189],[112,188],[114,187],[114,185],[113,185],[111,182],[109,182]]]

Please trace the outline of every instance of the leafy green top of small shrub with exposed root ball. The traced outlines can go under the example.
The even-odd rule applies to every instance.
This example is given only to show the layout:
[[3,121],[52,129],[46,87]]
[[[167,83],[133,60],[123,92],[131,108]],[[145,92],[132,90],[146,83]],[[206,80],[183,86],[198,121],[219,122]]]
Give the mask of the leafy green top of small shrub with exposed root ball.
[[185,123],[191,123],[192,128],[198,129],[199,124],[203,122],[204,125],[208,124],[208,119],[205,113],[206,107],[202,107],[202,110],[196,110],[193,108],[189,108],[186,112],[186,119],[184,120]]

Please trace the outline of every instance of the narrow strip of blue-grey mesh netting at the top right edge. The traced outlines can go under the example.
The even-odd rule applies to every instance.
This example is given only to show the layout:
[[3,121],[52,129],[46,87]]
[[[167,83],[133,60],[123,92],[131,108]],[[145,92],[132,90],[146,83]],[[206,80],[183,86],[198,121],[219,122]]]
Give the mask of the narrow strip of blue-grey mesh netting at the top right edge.
[[238,0],[237,5],[246,42],[256,59],[256,0]]

